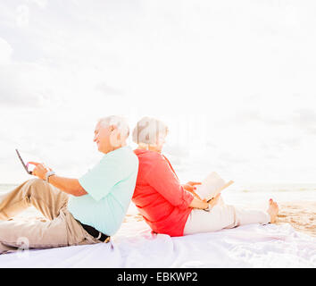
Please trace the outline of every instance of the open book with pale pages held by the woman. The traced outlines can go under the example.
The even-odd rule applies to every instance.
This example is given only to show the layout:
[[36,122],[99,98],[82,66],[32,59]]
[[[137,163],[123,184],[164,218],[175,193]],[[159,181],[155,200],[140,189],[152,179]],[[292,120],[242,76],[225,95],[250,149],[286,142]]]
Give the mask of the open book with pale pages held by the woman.
[[223,189],[229,187],[234,181],[225,182],[220,178],[217,172],[211,172],[202,181],[201,185],[196,185],[195,193],[202,199],[206,198],[208,202],[216,195],[218,195]]

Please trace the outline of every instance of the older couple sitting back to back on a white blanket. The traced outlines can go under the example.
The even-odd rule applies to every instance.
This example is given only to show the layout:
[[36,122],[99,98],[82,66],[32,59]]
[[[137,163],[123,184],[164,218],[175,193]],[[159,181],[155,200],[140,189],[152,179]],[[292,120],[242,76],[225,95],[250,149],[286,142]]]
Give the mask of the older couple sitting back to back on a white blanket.
[[[181,185],[162,155],[167,133],[163,122],[143,118],[133,131],[138,145],[133,152],[126,143],[127,122],[112,115],[96,124],[94,141],[104,156],[79,179],[30,162],[36,165],[32,173],[37,179],[0,196],[0,254],[21,248],[21,243],[22,248],[55,248],[108,242],[120,228],[130,200],[154,232],[170,236],[275,222],[278,205],[272,200],[263,212],[227,206],[220,196],[210,203],[196,198],[196,183]],[[12,219],[29,206],[46,220]]]

